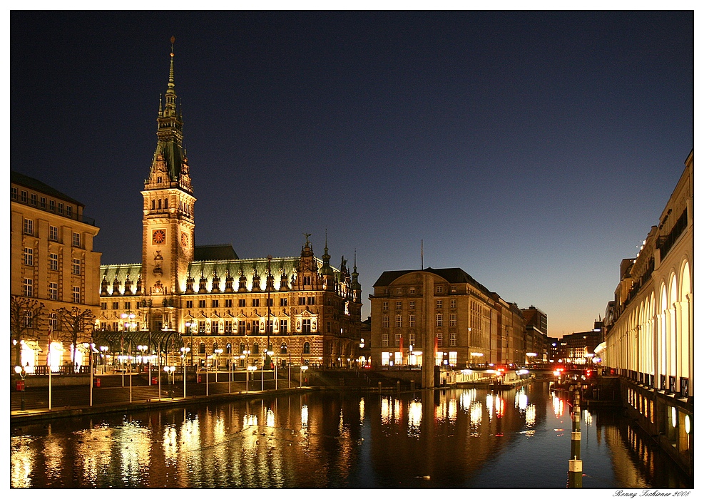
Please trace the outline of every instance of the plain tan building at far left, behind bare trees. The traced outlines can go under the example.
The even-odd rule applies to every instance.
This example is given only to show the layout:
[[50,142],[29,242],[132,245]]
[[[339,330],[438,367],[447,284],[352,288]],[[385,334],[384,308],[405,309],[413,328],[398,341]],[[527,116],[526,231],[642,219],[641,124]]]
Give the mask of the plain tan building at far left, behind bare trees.
[[[63,334],[58,312],[75,307],[78,314],[95,317],[100,306],[101,253],[93,251],[99,229],[83,216],[83,208],[44,182],[10,173],[10,329],[16,353],[11,360],[28,371],[39,365],[81,364],[87,354],[85,337],[72,354],[76,341]],[[91,324],[85,325],[81,333],[88,335]]]

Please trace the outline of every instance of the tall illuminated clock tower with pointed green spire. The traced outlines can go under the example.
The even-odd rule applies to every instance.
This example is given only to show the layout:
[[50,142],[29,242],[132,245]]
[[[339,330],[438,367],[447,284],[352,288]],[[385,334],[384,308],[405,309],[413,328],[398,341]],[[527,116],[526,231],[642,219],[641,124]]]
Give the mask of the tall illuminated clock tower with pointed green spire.
[[[174,295],[185,291],[195,229],[195,197],[183,149],[183,120],[176,106],[173,42],[171,37],[168,90],[165,102],[159,101],[156,150],[142,191],[143,290],[153,307],[169,308],[173,307]],[[164,312],[163,327],[175,326],[170,324],[170,314]]]

